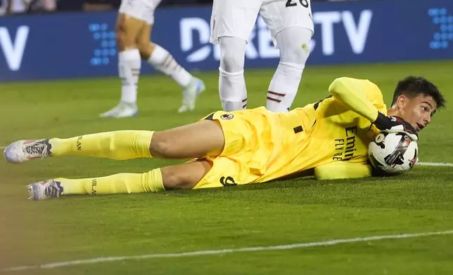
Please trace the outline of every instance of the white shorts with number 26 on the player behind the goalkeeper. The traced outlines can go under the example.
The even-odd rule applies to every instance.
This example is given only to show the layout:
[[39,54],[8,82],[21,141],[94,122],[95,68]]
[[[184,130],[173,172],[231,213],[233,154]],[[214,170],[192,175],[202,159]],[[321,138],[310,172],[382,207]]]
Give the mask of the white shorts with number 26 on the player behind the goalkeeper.
[[231,36],[250,42],[250,34],[260,14],[274,39],[288,27],[305,27],[314,33],[310,0],[214,0],[211,15],[211,43]]

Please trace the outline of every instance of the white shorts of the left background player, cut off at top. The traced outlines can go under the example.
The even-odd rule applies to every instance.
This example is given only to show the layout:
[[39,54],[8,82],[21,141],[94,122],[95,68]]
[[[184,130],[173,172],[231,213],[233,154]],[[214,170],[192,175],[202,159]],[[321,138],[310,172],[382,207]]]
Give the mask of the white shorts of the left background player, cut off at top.
[[154,24],[154,11],[162,0],[122,0],[120,13]]

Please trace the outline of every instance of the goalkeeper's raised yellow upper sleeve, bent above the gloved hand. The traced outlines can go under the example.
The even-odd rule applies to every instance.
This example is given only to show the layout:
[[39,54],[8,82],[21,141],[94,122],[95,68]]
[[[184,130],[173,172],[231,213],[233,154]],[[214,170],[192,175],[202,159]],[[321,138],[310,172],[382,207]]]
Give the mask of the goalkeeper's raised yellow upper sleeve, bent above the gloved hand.
[[385,109],[381,90],[368,80],[340,77],[331,83],[328,91],[348,109],[371,122]]

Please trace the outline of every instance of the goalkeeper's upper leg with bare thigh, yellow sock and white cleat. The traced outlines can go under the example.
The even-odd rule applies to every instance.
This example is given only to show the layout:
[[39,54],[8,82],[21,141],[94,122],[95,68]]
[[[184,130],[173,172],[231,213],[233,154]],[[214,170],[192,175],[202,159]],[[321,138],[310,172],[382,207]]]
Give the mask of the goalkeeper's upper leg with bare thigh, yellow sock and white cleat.
[[48,156],[95,156],[108,159],[189,159],[217,156],[225,145],[222,126],[203,120],[170,130],[118,130],[49,140],[19,140],[6,147],[10,163]]

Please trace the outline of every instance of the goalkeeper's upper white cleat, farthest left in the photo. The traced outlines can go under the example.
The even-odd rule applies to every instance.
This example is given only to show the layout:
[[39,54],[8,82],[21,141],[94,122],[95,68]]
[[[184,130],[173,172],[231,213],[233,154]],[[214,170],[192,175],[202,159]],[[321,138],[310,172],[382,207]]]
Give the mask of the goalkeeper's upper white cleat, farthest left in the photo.
[[19,140],[8,145],[4,156],[9,163],[21,163],[32,159],[44,159],[51,155],[49,140]]

